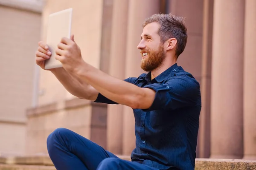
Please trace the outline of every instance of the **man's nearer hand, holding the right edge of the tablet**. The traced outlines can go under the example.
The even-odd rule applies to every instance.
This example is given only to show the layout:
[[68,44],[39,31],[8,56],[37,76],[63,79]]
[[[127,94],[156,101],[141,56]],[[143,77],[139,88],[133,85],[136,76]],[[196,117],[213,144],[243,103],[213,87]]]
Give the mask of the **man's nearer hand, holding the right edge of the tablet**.
[[84,64],[81,50],[74,41],[74,35],[71,35],[70,39],[63,37],[57,47],[55,59],[62,63],[66,71],[75,72]]

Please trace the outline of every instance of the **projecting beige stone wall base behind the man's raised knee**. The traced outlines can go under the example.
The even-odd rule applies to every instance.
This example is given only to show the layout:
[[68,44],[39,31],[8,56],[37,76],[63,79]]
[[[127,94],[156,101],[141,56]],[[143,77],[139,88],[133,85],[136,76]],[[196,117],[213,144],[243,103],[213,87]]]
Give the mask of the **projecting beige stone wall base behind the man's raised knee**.
[[29,116],[26,155],[47,154],[47,136],[58,127],[65,127],[90,139],[91,107],[61,108],[53,113]]

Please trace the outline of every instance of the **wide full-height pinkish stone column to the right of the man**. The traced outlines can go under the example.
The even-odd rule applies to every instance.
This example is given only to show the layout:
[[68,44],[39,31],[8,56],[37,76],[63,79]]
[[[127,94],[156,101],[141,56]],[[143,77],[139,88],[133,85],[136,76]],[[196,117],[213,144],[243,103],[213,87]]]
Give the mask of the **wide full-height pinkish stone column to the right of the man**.
[[211,158],[243,155],[244,0],[215,0],[212,42]]

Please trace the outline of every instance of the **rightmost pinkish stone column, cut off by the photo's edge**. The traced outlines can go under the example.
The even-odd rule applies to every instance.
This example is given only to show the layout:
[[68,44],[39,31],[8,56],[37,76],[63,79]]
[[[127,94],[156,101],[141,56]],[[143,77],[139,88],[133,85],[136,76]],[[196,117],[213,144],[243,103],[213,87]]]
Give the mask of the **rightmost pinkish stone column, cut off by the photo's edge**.
[[256,160],[256,1],[245,1],[244,158]]

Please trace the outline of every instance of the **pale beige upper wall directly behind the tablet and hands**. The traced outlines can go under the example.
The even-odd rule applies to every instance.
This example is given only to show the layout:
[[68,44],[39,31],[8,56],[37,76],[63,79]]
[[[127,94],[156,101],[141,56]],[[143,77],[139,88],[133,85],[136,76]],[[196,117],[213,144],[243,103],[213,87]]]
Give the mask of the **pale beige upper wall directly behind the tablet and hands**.
[[[71,34],[81,48],[82,57],[91,65],[99,68],[102,36],[103,0],[46,0],[42,12],[41,40],[46,41],[47,19],[49,14],[66,8],[73,8]],[[72,99],[49,71],[40,70],[38,105]]]

